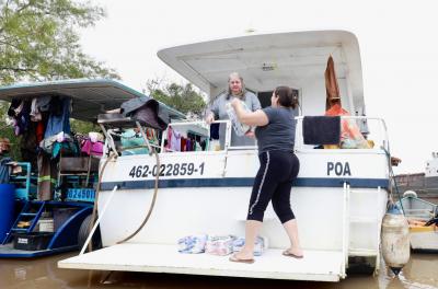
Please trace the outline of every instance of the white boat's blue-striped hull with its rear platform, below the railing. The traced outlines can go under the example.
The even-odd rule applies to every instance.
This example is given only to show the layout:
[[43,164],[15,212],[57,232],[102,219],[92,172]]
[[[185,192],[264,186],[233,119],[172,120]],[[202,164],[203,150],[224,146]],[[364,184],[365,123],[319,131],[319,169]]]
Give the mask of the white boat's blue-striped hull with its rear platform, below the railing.
[[[240,150],[160,154],[165,169],[151,217],[123,244],[117,243],[140,227],[151,206],[154,158],[123,157],[111,162],[97,204],[101,212],[108,204],[100,222],[105,248],[61,261],[59,267],[337,281],[346,276],[348,257],[378,261],[388,200],[385,154],[377,150],[311,150],[297,155],[301,170],[290,204],[303,259],[281,255],[290,244],[270,205],[260,232],[269,247],[251,268],[229,262],[228,256],[177,252],[177,240],[185,235],[244,235],[258,159],[256,151]],[[175,164],[181,170],[184,163],[193,163],[191,175],[175,170],[166,176],[168,165],[173,173]],[[335,169],[336,163],[343,169]],[[114,186],[119,188],[112,195]]]

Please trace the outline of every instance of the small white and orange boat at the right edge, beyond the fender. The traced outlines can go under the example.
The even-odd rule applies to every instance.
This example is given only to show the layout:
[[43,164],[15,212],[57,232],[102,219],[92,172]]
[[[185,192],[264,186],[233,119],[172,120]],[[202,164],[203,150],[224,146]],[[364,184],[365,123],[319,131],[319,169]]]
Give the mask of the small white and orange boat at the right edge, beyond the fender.
[[411,248],[438,252],[438,205],[417,197],[413,190],[397,201],[410,224]]

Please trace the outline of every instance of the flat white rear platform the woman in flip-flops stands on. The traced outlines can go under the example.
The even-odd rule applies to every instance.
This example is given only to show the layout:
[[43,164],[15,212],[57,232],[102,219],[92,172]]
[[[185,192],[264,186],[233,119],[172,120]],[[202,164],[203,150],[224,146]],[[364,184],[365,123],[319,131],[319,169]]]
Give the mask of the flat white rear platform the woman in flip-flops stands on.
[[182,254],[176,245],[125,243],[60,261],[58,267],[338,281],[342,264],[341,251],[304,251],[304,258],[296,259],[269,248],[255,263],[243,264],[230,262],[229,256]]

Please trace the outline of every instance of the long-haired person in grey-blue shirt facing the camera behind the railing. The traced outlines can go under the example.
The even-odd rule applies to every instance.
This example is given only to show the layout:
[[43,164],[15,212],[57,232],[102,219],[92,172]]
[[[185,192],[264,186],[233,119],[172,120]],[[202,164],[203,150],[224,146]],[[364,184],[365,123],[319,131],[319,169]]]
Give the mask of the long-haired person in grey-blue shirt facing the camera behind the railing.
[[[238,72],[232,72],[228,78],[227,92],[220,94],[207,111],[206,115],[207,124],[211,124],[212,122],[218,119],[229,119],[229,115],[227,113],[227,104],[233,101],[234,99],[243,101],[246,107],[250,108],[252,112],[262,108],[262,105],[257,96],[255,96],[254,93],[245,90],[242,77]],[[219,140],[222,148],[226,136],[224,131],[226,131],[226,126],[221,124],[219,129]],[[231,146],[255,146],[255,140],[253,136],[254,136],[253,132],[249,132],[244,136],[238,136],[235,131],[232,129]]]

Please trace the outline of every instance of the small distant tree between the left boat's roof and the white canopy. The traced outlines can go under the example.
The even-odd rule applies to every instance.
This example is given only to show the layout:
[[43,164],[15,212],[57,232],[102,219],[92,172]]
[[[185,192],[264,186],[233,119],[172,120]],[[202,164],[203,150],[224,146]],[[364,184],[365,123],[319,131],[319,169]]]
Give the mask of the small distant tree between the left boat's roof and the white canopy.
[[147,88],[151,97],[194,118],[199,118],[206,107],[201,93],[195,91],[191,83],[182,85],[149,80]]

